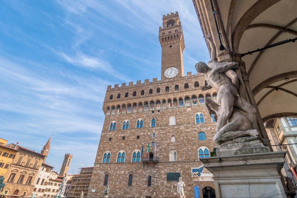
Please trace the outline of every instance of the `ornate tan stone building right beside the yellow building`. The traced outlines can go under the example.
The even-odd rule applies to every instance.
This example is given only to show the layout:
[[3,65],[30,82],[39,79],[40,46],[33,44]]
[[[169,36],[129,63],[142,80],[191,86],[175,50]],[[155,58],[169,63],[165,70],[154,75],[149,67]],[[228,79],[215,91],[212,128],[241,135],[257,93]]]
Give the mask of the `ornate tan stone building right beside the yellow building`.
[[18,152],[4,176],[4,193],[31,194],[34,190],[34,181],[46,156],[18,144],[8,144],[7,146],[18,150]]

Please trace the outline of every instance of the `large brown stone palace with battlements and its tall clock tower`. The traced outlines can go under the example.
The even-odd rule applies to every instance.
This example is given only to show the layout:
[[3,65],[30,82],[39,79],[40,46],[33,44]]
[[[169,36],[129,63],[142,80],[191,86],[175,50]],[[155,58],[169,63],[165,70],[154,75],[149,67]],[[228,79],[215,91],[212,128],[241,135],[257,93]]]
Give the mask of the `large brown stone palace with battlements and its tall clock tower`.
[[88,197],[103,197],[107,185],[109,197],[177,197],[179,177],[186,197],[214,194],[212,174],[199,159],[215,147],[216,123],[204,98],[217,101],[217,92],[201,91],[204,75],[184,76],[178,12],[163,15],[162,24],[161,80],[107,88]]

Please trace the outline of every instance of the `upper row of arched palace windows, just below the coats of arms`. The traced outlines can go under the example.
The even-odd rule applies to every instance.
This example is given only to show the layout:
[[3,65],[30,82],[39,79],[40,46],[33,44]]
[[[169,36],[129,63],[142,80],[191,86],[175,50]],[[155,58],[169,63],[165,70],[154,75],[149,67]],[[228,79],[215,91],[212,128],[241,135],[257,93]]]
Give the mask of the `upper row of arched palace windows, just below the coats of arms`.
[[[212,122],[215,122],[214,120],[214,114],[211,114],[211,120]],[[204,115],[201,112],[198,112],[195,114],[195,123],[204,123]],[[174,116],[170,116],[169,118],[169,125],[176,125],[176,118]],[[156,119],[152,118],[150,121],[150,127],[155,127],[156,126]],[[143,119],[139,118],[136,121],[136,127],[135,128],[143,128]],[[129,120],[124,120],[122,129],[129,129]],[[109,131],[116,130],[116,121],[110,122],[109,125]]]

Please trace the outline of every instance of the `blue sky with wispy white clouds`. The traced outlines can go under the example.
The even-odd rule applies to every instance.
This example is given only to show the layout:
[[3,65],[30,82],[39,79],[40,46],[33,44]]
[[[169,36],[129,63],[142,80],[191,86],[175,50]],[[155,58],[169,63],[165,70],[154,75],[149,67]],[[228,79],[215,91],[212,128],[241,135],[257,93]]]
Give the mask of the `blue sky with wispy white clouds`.
[[69,174],[93,166],[106,86],[161,77],[163,14],[178,11],[184,73],[209,53],[192,1],[17,1],[0,4],[0,137]]

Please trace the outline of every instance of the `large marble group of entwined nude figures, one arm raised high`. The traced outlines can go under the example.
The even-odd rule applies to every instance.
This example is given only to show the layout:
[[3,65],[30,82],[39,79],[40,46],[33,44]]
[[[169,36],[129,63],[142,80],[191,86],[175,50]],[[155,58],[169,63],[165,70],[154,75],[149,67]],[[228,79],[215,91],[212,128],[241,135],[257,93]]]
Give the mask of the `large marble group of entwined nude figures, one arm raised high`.
[[257,110],[248,102],[238,63],[218,63],[216,47],[210,39],[210,34],[205,38],[211,47],[211,60],[207,65],[199,62],[195,67],[198,73],[205,74],[208,83],[201,90],[213,87],[218,91],[217,99],[221,105],[209,98],[205,99],[208,113],[214,114],[217,121],[217,134],[214,136],[214,142],[219,146],[223,142],[240,137],[258,138]]

